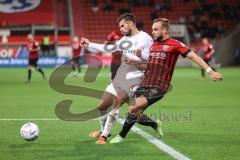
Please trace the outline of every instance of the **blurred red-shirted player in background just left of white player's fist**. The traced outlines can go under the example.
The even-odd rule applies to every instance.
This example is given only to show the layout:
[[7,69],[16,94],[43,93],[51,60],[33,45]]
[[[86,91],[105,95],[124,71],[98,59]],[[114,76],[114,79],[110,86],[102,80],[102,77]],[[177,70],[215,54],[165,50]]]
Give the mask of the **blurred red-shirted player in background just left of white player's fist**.
[[72,42],[72,60],[71,60],[71,65],[72,65],[72,70],[73,70],[73,75],[77,76],[80,75],[81,72],[81,46],[80,42],[78,40],[78,37],[75,36],[73,37],[73,42]]

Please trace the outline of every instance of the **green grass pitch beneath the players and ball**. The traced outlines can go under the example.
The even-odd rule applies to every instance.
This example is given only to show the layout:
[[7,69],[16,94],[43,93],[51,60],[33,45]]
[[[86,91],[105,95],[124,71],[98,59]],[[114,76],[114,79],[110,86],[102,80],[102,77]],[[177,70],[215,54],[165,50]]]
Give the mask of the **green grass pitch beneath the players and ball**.
[[[53,69],[44,69],[49,77]],[[85,70],[84,70],[85,71]],[[173,90],[146,113],[163,120],[162,141],[191,159],[238,160],[240,157],[240,68],[222,68],[224,81],[199,80],[195,68],[177,68]],[[84,85],[104,90],[109,83],[109,69],[103,69],[96,82],[86,83],[82,76],[69,76],[67,84]],[[82,74],[83,75],[83,74]],[[171,160],[133,132],[117,145],[96,145],[89,132],[99,129],[97,120],[85,122],[31,121],[41,130],[36,141],[21,139],[19,129],[26,121],[2,119],[56,118],[55,105],[63,99],[74,100],[71,111],[88,111],[98,100],[77,95],[64,95],[52,90],[48,80],[33,73],[32,83],[25,84],[27,70],[0,69],[0,159],[1,160]],[[121,115],[125,115],[124,105]],[[151,128],[139,126],[154,135]],[[117,124],[112,134],[116,135]]]

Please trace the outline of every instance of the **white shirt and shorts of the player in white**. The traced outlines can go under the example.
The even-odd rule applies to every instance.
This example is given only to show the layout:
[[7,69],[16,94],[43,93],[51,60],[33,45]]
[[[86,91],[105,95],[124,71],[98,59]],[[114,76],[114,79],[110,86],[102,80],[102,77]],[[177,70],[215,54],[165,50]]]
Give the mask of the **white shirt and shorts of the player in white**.
[[[130,97],[133,91],[129,90],[129,88],[139,85],[144,73],[136,66],[127,64],[125,60],[126,58],[131,58],[136,61],[147,61],[149,57],[149,49],[152,44],[153,40],[151,36],[148,35],[146,32],[140,31],[134,36],[122,37],[112,46],[109,45],[108,47],[106,47],[102,44],[90,43],[89,47],[100,50],[102,52],[109,52],[110,48],[111,52],[123,52],[122,64],[118,68],[117,74],[112,84],[115,89],[110,90],[125,90]],[[142,51],[140,57],[135,55],[135,51],[138,49]],[[113,93],[113,91],[111,91],[111,93]],[[114,95],[116,95],[116,93],[114,93]]]

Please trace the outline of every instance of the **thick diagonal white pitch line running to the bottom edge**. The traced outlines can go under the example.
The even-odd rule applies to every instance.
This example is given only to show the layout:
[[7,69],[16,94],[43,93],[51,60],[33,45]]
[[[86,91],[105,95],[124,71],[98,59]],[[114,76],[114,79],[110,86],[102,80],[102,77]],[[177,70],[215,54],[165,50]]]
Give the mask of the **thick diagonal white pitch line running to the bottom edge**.
[[[124,124],[124,120],[123,119],[118,119],[118,122],[121,123],[122,125]],[[150,143],[154,144],[156,147],[158,147],[162,151],[164,151],[167,154],[169,154],[171,157],[173,157],[173,158],[175,158],[177,160],[191,160],[190,158],[186,157],[185,155],[183,155],[183,154],[179,153],[178,151],[174,150],[172,147],[170,147],[167,144],[163,143],[162,141],[160,141],[156,137],[153,137],[152,135],[144,132],[140,128],[138,128],[136,126],[133,126],[131,130],[133,132],[135,132],[136,134],[138,134],[138,135],[142,136],[143,138],[145,138]]]

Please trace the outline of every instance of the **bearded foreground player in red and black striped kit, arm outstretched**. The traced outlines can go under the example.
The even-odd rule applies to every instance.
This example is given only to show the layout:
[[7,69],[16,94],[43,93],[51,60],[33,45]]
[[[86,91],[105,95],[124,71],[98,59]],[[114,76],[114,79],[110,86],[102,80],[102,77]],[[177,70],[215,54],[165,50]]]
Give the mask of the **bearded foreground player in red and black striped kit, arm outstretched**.
[[152,35],[154,44],[150,48],[147,64],[129,60],[129,63],[139,65],[139,67],[146,70],[143,81],[135,92],[134,103],[129,106],[128,117],[123,128],[110,143],[122,142],[136,122],[145,126],[157,126],[155,121],[143,117],[143,111],[164,97],[170,87],[170,81],[179,55],[189,58],[199,67],[206,70],[212,80],[222,80],[222,75],[213,71],[197,54],[183,43],[169,37],[169,25],[169,20],[165,18],[158,18],[153,21]]

